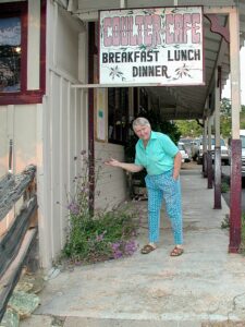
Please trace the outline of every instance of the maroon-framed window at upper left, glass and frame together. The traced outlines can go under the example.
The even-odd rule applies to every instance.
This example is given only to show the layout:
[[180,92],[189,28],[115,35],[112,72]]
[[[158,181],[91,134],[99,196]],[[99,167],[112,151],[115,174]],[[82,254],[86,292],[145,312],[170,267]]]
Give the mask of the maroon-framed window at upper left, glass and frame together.
[[[41,0],[40,5],[40,40],[45,45],[46,1]],[[0,105],[41,102],[45,93],[45,51],[44,46],[40,48],[39,89],[28,90],[27,1],[0,3]]]

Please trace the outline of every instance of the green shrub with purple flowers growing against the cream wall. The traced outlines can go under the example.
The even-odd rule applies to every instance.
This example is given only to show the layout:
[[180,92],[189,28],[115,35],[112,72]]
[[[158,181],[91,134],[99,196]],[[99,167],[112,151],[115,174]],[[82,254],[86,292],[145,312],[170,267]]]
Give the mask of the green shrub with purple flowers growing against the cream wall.
[[132,255],[137,249],[138,221],[135,211],[124,204],[111,211],[90,214],[84,152],[82,157],[85,164],[81,174],[74,179],[74,194],[69,196],[69,230],[63,257],[73,263],[95,263]]

